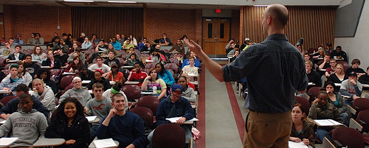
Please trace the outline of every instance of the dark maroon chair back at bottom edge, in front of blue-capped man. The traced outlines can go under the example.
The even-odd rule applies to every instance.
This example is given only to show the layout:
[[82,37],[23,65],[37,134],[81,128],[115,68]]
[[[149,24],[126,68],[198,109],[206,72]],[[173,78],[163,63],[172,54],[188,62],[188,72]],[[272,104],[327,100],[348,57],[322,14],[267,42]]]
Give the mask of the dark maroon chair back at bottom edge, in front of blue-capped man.
[[152,135],[153,148],[185,148],[185,131],[177,124],[156,127]]

